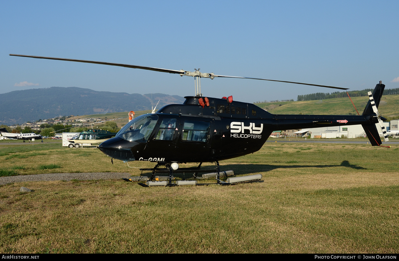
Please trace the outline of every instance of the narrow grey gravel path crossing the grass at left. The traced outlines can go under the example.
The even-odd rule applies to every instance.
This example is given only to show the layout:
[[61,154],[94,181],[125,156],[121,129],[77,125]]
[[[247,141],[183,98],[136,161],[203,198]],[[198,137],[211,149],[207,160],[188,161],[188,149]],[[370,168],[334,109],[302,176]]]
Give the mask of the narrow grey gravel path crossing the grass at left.
[[70,181],[71,179],[122,179],[130,177],[130,173],[121,172],[91,172],[91,173],[48,173],[36,175],[20,175],[0,177],[0,185],[24,181]]

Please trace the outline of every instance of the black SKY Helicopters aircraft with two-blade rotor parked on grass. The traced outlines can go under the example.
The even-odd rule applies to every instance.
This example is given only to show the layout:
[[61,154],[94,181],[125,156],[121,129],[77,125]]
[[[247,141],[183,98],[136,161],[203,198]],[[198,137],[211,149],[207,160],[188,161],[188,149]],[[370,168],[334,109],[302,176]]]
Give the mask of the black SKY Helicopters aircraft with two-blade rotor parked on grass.
[[[196,96],[186,96],[183,104],[170,104],[156,113],[145,114],[126,124],[114,138],[104,141],[99,149],[113,159],[121,161],[152,161],[156,162],[152,171],[155,173],[169,173],[168,186],[172,183],[172,173],[199,173],[202,162],[215,162],[218,184],[226,184],[219,180],[219,161],[247,155],[261,149],[269,135],[274,130],[316,128],[324,126],[341,126],[361,124],[371,145],[381,145],[375,124],[379,123],[387,141],[386,131],[382,124],[377,107],[381,100],[385,85],[379,82],[373,93],[369,93],[362,115],[279,115],[271,114],[255,104],[233,100],[232,96],[219,98],[205,97],[201,94],[200,78],[262,78],[235,77],[215,75],[184,70],[169,70],[154,67],[106,63],[99,61],[85,61],[54,57],[40,57],[31,55],[14,55],[40,59],[61,61],[75,61],[82,63],[96,63],[136,69],[145,69],[180,76],[192,76],[196,81]],[[269,80],[288,82],[280,80]],[[311,86],[321,86],[347,90],[334,86],[288,82]],[[180,168],[179,163],[198,163],[197,168]],[[158,168],[165,166],[165,168]],[[145,184],[141,184],[144,186]]]

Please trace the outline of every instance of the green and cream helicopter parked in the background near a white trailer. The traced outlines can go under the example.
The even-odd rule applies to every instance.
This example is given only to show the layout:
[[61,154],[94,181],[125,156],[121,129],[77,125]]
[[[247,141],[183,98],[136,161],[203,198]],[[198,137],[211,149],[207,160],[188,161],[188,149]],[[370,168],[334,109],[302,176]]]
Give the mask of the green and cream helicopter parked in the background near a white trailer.
[[111,131],[106,131],[106,130],[87,130],[87,131],[82,131],[79,134],[76,134],[73,136],[71,139],[68,141],[71,142],[71,144],[68,145],[68,147],[79,147],[83,143],[87,143],[90,145],[97,145],[99,143],[102,143],[106,141],[107,139],[110,139],[111,137],[114,137],[117,134],[117,132],[111,132]]

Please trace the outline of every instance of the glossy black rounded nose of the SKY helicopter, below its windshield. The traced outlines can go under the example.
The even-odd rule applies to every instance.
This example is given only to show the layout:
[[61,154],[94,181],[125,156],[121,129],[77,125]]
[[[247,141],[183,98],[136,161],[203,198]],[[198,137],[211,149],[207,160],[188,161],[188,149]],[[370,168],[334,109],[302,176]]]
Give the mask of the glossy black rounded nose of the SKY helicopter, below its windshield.
[[114,137],[99,145],[99,149],[107,156],[121,161],[134,161],[134,156],[130,148],[131,143],[126,139]]

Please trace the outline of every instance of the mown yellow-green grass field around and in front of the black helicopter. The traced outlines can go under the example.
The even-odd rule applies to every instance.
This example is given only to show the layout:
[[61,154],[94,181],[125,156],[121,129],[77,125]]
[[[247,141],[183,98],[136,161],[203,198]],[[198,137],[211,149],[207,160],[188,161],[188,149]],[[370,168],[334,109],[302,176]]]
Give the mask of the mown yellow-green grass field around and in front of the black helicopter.
[[[16,175],[140,175],[98,149],[60,143],[0,144],[0,161]],[[58,167],[41,167],[49,165]],[[0,252],[399,252],[399,144],[266,143],[221,168],[263,179],[171,188],[122,180],[0,186]],[[34,191],[21,193],[21,186]]]

